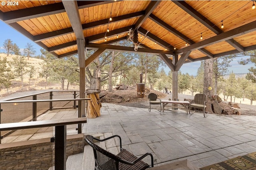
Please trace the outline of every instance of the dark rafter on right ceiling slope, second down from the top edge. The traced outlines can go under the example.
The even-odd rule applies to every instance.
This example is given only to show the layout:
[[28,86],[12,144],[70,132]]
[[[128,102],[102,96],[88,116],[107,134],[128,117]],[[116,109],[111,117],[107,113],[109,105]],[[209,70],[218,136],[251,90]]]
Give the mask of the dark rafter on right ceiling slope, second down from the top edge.
[[[183,35],[182,33],[180,33],[179,31],[177,31],[176,29],[174,29],[173,27],[171,27],[170,25],[168,25],[167,23],[165,23],[164,21],[160,20],[160,18],[157,18],[156,16],[154,16],[153,14],[150,14],[149,18],[150,18],[150,20],[154,21],[155,23],[157,23],[158,25],[160,25],[161,27],[163,27],[167,31],[170,31],[172,34],[176,35],[177,37],[179,37],[180,39],[182,39],[186,43],[188,43],[188,44],[196,43],[193,40],[186,37],[185,35]],[[213,58],[213,54],[210,53],[209,51],[207,51],[206,49],[198,49],[198,50],[200,52],[204,53],[209,58]]]

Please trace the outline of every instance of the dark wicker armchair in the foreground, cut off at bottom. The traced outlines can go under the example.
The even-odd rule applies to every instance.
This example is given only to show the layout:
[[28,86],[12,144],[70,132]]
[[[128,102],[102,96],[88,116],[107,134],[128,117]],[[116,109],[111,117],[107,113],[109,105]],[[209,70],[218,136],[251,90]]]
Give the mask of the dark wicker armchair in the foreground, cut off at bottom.
[[[102,142],[114,137],[118,137],[120,140],[120,153],[118,153],[117,155],[102,149],[94,143],[94,140]],[[137,158],[136,156],[122,148],[121,137],[118,135],[114,135],[112,137],[108,137],[102,140],[95,138],[91,135],[86,135],[85,141],[93,148],[95,170],[145,170],[147,168],[150,168],[150,166],[147,163],[143,162],[142,159],[148,155],[150,155],[151,157],[151,167],[154,166],[153,156],[151,153],[146,153]]]

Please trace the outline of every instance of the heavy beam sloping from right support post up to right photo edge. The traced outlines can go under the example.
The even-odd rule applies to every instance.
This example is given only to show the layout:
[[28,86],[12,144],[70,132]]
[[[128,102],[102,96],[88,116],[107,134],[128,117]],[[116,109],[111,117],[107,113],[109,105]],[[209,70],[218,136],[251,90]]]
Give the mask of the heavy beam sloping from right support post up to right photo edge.
[[177,54],[184,53],[185,51],[197,50],[197,49],[212,45],[214,43],[219,43],[219,42],[222,42],[222,41],[226,41],[228,39],[232,39],[232,38],[235,38],[235,37],[238,37],[240,35],[244,35],[246,33],[250,33],[250,32],[253,32],[253,31],[256,31],[256,21],[253,21],[251,23],[247,23],[247,24],[242,25],[240,27],[231,29],[231,30],[226,31],[224,33],[220,33],[220,34],[218,34],[218,35],[216,35],[216,36],[214,36],[210,39],[206,39],[206,40],[200,41],[196,44],[192,44],[188,47],[184,47],[182,49],[179,49],[177,51]]

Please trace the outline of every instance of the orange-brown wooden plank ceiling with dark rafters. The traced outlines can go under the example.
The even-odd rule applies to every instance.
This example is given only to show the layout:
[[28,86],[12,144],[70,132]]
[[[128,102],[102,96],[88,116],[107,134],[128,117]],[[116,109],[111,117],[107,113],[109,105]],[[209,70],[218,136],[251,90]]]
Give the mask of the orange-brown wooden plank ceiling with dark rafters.
[[[172,55],[180,58],[187,51],[186,62],[194,62],[256,49],[253,3],[256,4],[251,0],[74,2],[86,47],[134,51],[132,47],[108,44],[127,39],[131,28],[138,31],[141,41],[149,30],[140,44],[145,49],[139,48],[138,52],[160,54],[170,63]],[[77,33],[70,21],[74,18],[69,18],[68,8],[72,9],[70,3],[62,1],[18,1],[16,6],[0,6],[0,20],[61,58],[78,53]]]

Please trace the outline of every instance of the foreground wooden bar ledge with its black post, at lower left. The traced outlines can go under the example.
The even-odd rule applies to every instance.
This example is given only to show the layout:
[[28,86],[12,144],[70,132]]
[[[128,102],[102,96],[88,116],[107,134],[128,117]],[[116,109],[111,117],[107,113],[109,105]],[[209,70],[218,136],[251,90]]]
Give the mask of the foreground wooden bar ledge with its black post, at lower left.
[[55,126],[55,169],[66,170],[66,125],[86,123],[87,118],[29,121],[0,124],[0,131]]

